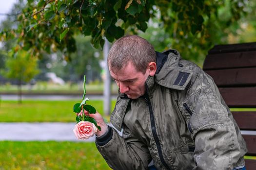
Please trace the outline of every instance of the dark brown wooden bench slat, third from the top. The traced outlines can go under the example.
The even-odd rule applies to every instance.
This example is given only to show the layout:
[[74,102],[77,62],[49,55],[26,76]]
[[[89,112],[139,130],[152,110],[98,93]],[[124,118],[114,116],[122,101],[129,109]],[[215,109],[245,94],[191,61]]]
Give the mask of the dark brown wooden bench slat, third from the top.
[[256,86],[256,68],[205,70],[217,86]]

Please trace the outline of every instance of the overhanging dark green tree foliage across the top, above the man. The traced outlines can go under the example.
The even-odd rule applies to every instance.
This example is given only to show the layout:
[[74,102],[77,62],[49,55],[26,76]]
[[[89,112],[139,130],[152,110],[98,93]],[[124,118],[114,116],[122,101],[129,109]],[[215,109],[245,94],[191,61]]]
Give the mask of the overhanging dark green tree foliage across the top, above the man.
[[[27,0],[17,17],[17,28],[1,33],[2,40],[16,37],[19,49],[38,56],[54,48],[65,59],[76,51],[75,34],[91,35],[91,43],[102,47],[124,34],[145,32],[150,19],[172,38],[173,48],[208,50],[244,13],[244,0]],[[219,9],[225,7],[225,14]],[[13,49],[15,51],[15,49]]]

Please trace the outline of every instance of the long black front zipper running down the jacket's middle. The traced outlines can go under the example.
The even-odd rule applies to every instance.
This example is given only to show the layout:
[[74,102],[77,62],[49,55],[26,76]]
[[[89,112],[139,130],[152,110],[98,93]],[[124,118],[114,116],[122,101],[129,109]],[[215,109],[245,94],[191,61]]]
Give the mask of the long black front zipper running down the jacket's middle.
[[151,102],[149,100],[149,97],[148,97],[147,93],[146,93],[145,100],[146,100],[146,102],[148,104],[148,107],[149,107],[151,130],[152,130],[152,134],[153,134],[153,137],[154,137],[156,145],[157,145],[158,155],[159,155],[160,161],[162,162],[162,164],[164,165],[164,167],[167,170],[170,170],[170,168],[168,167],[167,163],[165,162],[165,160],[163,158],[163,153],[162,153],[161,145],[160,145],[160,142],[159,142],[159,139],[158,139],[158,135],[157,135],[157,130],[156,130],[156,124],[155,124],[153,109],[152,109],[152,105],[151,105]]

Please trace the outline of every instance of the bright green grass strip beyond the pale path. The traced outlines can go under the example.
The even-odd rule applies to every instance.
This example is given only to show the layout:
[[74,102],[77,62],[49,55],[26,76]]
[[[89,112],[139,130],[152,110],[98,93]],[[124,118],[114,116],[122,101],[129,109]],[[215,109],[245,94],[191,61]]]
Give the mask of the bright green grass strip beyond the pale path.
[[[80,101],[1,101],[0,122],[75,122],[73,105]],[[103,114],[103,101],[88,101]],[[112,110],[115,101],[112,101]],[[103,115],[104,116],[104,115]],[[104,116],[109,120],[109,116]]]

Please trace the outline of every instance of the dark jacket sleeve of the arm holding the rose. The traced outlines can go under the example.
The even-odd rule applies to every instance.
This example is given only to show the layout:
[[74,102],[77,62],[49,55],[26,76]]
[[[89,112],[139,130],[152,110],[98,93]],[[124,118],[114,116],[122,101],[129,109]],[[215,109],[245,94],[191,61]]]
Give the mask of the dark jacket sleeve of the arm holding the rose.
[[108,136],[96,139],[96,146],[110,168],[114,170],[146,170],[152,159],[145,144],[123,128],[122,136],[109,127]]

